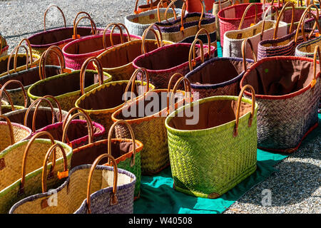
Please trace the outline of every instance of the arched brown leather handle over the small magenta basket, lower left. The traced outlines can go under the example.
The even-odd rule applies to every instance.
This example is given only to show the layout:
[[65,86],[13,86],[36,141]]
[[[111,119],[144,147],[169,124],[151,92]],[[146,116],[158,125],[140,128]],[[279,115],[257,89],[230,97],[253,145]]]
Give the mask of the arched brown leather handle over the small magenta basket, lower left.
[[[68,116],[71,115],[71,113],[73,113],[74,110],[80,110],[81,113],[76,113],[76,114],[72,115],[70,119],[68,119]],[[85,110],[83,110],[82,108],[77,108],[77,107],[71,108],[71,110],[69,110],[68,115],[66,116],[65,120],[63,121],[63,137],[62,137],[61,142],[66,142],[68,145],[70,145],[70,142],[67,138],[68,128],[69,128],[69,125],[71,125],[71,120],[73,120],[74,118],[76,118],[78,116],[82,116],[83,118],[86,119],[87,128],[88,128],[88,143],[89,144],[93,143],[93,123],[91,122],[91,118],[85,112]]]

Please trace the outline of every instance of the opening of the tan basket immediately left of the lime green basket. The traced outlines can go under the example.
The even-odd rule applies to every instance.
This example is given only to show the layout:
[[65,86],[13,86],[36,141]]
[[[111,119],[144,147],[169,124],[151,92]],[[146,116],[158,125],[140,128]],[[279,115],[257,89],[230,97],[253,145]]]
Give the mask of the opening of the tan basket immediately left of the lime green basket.
[[[166,90],[146,93],[143,99],[131,103],[128,107],[121,108],[115,115],[115,118],[117,120],[136,120],[163,112],[167,110],[167,94]],[[177,92],[174,103],[182,103],[183,100],[184,93]]]

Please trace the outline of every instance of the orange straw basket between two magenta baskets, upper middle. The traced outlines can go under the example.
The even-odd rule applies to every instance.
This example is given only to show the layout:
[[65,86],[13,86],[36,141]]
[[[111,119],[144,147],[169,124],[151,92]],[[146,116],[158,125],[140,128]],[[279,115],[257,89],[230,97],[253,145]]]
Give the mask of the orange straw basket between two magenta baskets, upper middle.
[[133,61],[136,57],[141,56],[143,53],[156,50],[163,45],[173,44],[173,42],[170,41],[163,41],[162,36],[158,38],[156,31],[152,29],[151,31],[154,32],[156,40],[146,40],[145,37],[148,31],[149,29],[146,29],[142,40],[123,43],[119,46],[109,48],[97,56],[101,61],[103,71],[113,76],[112,81],[129,80],[135,71]]

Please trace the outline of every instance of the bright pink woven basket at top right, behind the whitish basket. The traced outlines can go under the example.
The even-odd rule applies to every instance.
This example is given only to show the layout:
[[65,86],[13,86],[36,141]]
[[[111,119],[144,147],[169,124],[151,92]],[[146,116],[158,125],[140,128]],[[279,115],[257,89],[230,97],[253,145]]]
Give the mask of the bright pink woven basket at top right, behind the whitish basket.
[[[251,24],[256,24],[258,21],[261,21],[263,14],[263,4],[262,3],[253,3],[257,6],[258,11],[255,11],[255,7],[252,6],[248,9],[247,14],[245,15],[243,26],[241,28],[248,28]],[[238,4],[234,6],[229,6],[218,12],[218,19],[220,20],[220,42],[223,46],[224,42],[224,33],[231,30],[237,30],[240,25],[240,21],[243,17],[245,9],[250,4]],[[265,4],[269,6],[269,4]]]

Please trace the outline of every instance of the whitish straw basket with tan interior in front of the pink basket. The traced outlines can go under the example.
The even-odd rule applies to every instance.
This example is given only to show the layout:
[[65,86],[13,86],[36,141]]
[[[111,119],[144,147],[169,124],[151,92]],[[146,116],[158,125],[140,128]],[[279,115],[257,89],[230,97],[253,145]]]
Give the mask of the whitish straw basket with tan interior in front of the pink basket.
[[[258,43],[260,43],[261,40],[264,41],[273,38],[276,21],[265,20],[263,38],[261,39],[262,24],[263,21],[260,21],[258,24],[249,28],[227,31],[224,34],[223,57],[242,58],[241,46],[245,38],[248,38],[251,41],[253,44],[253,51],[255,56],[257,56]],[[282,37],[285,35],[287,35],[287,24],[280,21],[277,36]],[[250,46],[246,46],[245,58],[253,58]]]

